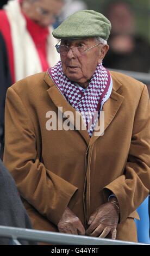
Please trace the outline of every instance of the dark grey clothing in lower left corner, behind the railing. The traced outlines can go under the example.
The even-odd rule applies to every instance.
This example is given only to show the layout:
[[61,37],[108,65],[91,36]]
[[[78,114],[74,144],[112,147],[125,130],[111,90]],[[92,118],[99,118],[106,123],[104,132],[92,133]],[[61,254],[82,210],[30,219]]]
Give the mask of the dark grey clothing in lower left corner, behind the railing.
[[[18,194],[15,181],[0,160],[0,225],[32,228],[29,217]],[[22,245],[35,244],[20,241]],[[8,245],[9,239],[0,237],[0,245]]]

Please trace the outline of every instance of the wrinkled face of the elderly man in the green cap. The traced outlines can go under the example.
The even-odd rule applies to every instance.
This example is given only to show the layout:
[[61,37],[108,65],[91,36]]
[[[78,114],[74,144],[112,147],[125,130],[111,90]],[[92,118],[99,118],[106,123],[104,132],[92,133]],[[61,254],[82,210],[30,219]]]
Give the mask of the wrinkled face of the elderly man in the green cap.
[[[98,44],[98,41],[93,38],[81,39],[81,40],[61,40],[61,45],[68,47],[79,47],[83,46],[85,49],[90,48]],[[98,63],[101,63],[101,53],[103,45],[100,44],[96,47],[91,48],[82,54],[74,54],[70,49],[65,55],[60,52],[60,58],[62,63],[62,70],[64,74],[73,82],[78,84],[88,84],[93,73],[96,70]]]

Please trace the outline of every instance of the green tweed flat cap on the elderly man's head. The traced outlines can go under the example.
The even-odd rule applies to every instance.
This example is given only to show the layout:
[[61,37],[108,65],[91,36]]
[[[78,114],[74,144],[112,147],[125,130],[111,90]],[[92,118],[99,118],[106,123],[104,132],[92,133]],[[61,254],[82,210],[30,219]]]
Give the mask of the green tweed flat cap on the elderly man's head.
[[101,13],[93,10],[81,10],[67,17],[59,27],[54,29],[54,38],[91,38],[101,36],[108,40],[111,23]]

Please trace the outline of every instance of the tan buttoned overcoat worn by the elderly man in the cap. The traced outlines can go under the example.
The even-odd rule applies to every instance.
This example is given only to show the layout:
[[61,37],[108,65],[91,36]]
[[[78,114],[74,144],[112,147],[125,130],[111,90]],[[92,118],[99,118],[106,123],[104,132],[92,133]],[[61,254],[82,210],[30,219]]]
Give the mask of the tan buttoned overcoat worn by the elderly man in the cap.
[[136,241],[135,209],[150,184],[149,97],[141,82],[116,72],[111,76],[104,135],[93,133],[91,139],[86,130],[46,128],[49,111],[57,121],[62,114],[58,107],[72,111],[74,118],[76,114],[47,73],[8,89],[4,164],[35,229],[57,231],[66,206],[86,228],[91,213],[114,193],[121,210],[117,239]]

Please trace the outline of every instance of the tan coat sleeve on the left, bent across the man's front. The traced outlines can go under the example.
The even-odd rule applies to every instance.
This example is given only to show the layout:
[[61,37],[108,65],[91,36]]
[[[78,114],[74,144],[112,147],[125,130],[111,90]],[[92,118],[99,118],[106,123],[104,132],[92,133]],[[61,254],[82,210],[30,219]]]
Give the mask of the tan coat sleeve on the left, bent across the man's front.
[[4,164],[14,177],[21,196],[57,225],[78,188],[40,162],[34,125],[12,87],[8,89],[5,105]]

